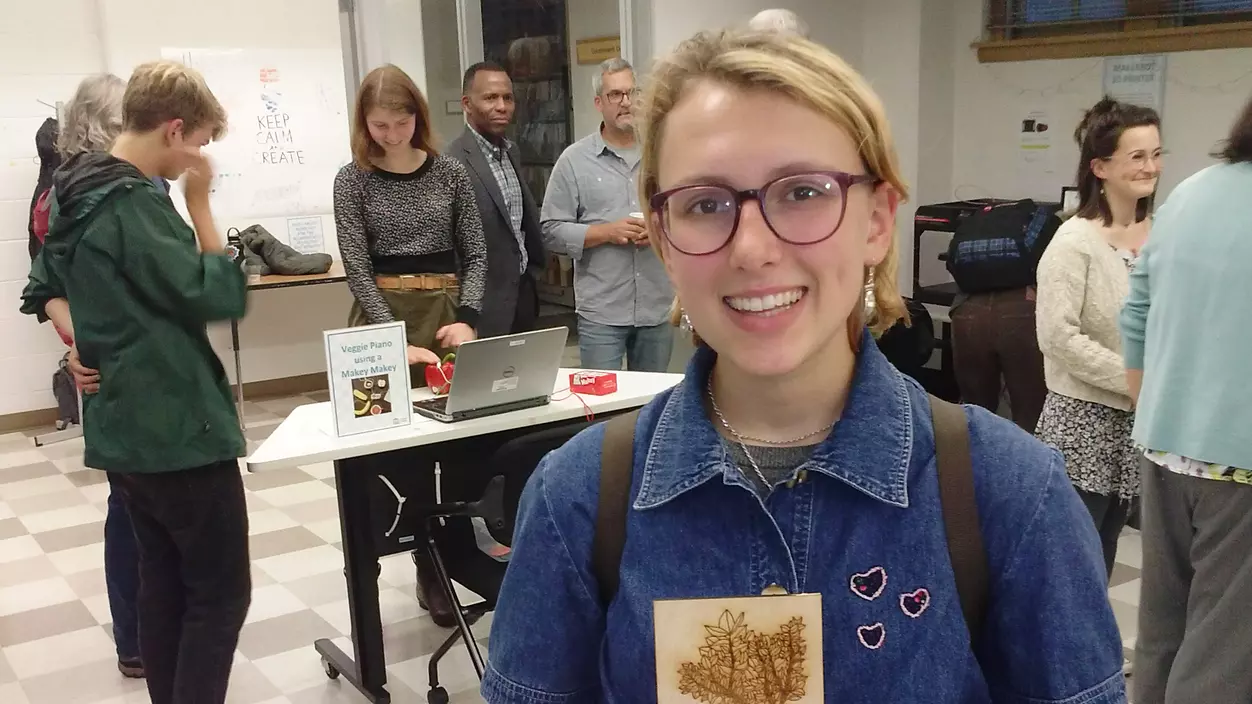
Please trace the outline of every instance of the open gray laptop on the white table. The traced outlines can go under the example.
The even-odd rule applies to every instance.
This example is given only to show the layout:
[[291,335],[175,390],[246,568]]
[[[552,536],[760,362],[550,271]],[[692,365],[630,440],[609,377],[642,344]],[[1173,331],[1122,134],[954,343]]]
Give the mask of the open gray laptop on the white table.
[[453,423],[545,406],[568,334],[557,327],[466,342],[457,349],[448,395],[414,401],[413,411]]

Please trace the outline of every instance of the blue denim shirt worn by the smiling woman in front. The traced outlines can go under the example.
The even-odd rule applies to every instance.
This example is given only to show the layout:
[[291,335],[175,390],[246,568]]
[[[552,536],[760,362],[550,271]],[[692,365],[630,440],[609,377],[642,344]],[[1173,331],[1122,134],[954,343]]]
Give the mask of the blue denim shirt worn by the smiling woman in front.
[[[655,701],[652,600],[771,585],[821,594],[828,701],[1126,701],[1101,547],[1057,452],[967,410],[992,575],[975,655],[948,559],[925,392],[866,336],[839,423],[799,481],[762,501],[706,416],[715,358],[701,348],[685,381],[639,418],[607,614],[591,572],[603,427],[540,465],[496,609],[487,701]],[[864,585],[879,595],[854,591]],[[929,601],[910,615],[901,598],[919,589]]]

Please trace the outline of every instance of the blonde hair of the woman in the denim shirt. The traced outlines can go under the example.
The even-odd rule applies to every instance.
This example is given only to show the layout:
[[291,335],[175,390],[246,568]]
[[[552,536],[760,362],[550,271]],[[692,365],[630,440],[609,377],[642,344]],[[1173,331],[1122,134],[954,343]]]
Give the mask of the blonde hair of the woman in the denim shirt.
[[[741,90],[777,93],[821,113],[858,145],[860,159],[870,174],[895,189],[901,200],[908,198],[909,189],[900,177],[883,103],[865,79],[843,59],[794,34],[700,33],[656,63],[637,111],[644,140],[639,188],[646,222],[652,222],[651,199],[660,192],[657,164],[666,118],[689,86],[699,80],[712,80]],[[874,306],[856,306],[848,321],[854,349],[866,323],[875,336],[899,321],[908,323],[908,311],[896,279],[899,252],[895,233],[890,237],[886,257],[865,271],[866,284],[870,281],[874,284]],[[664,258],[659,239],[652,239],[652,247]],[[681,316],[681,302],[675,299],[671,322],[679,324]],[[699,337],[694,337],[699,343]]]

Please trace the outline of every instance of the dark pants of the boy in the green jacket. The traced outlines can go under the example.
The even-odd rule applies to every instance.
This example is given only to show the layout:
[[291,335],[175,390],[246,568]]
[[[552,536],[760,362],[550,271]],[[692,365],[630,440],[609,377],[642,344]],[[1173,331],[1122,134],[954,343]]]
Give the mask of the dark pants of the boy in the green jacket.
[[230,460],[110,474],[139,545],[139,650],[153,704],[222,704],[252,600],[248,506]]

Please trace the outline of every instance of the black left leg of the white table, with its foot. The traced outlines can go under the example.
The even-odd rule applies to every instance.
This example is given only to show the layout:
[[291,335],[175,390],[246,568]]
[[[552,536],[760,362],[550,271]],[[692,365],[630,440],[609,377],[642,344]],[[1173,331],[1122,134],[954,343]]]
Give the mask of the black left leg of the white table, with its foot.
[[322,655],[327,675],[343,675],[374,704],[389,704],[387,663],[383,655],[383,625],[378,613],[378,556],[369,522],[371,472],[368,457],[334,463],[339,495],[339,524],[343,531],[344,576],[348,579],[348,613],[352,616],[352,648],[356,661],[329,640],[313,644]]

